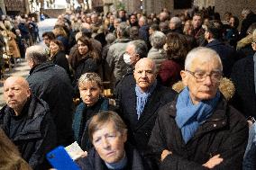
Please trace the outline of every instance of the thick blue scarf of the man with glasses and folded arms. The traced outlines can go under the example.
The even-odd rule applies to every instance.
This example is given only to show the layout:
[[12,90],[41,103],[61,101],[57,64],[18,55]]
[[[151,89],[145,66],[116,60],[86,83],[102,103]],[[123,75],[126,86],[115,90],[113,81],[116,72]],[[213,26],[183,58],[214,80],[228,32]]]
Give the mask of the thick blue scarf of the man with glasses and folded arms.
[[194,105],[190,99],[187,87],[178,94],[178,101],[176,104],[177,115],[175,121],[178,128],[181,130],[185,143],[195,135],[199,125],[212,115],[219,98],[220,92],[218,91],[215,98],[201,101]]

